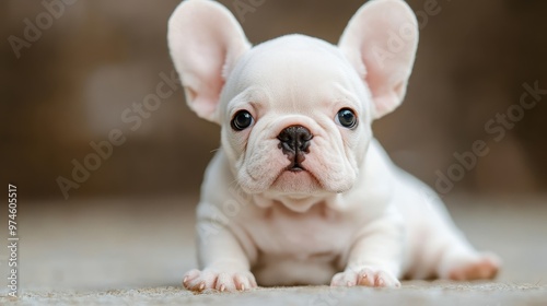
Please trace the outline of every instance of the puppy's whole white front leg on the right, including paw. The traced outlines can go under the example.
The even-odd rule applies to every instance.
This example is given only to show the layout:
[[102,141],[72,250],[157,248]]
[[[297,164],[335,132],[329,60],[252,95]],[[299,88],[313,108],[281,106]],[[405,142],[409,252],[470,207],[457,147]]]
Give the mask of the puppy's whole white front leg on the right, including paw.
[[395,217],[368,224],[351,247],[346,269],[334,275],[330,285],[399,287],[401,231]]

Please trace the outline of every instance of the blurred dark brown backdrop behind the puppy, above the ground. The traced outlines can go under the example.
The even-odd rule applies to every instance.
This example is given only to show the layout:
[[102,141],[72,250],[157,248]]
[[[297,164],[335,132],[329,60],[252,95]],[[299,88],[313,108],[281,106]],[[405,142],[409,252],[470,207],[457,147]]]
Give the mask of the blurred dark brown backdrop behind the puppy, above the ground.
[[[179,1],[66,1],[74,3],[50,16],[50,26],[42,1],[0,2],[2,181],[18,184],[20,197],[62,199],[56,179],[72,179],[72,161],[83,163],[94,152],[91,141],[119,129],[126,142],[70,197],[196,195],[219,128],[190,113],[182,91],[135,131],[121,119],[155,92],[160,73],[173,71],[166,23]],[[220,2],[237,16],[234,3],[259,1]],[[238,20],[253,44],[289,33],[336,43],[363,2],[265,0]],[[432,186],[438,169],[456,163],[454,152],[487,142],[488,155],[451,195],[547,191],[547,95],[499,142],[485,130],[519,104],[524,83],[547,90],[547,1],[408,2],[422,27],[418,57],[404,105],[375,123],[376,137],[403,168]],[[18,59],[10,37],[25,39],[28,21],[45,28]]]

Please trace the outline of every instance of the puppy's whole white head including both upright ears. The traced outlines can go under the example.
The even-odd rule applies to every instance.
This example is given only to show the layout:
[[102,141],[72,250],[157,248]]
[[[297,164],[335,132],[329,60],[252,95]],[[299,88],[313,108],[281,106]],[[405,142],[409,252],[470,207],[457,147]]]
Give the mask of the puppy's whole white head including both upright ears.
[[221,126],[237,184],[293,197],[352,188],[372,120],[405,95],[417,42],[401,0],[364,4],[338,46],[289,35],[251,48],[234,16],[208,0],[184,1],[168,30],[186,101]]

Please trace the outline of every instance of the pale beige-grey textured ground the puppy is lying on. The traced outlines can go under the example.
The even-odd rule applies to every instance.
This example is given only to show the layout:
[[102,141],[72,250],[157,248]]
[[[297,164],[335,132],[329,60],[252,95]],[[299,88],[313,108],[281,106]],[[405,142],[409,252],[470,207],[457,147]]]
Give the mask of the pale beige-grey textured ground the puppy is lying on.
[[[21,305],[547,305],[547,203],[452,199],[456,223],[499,254],[496,282],[405,282],[400,290],[328,286],[194,295],[178,285],[195,267],[195,199],[20,203]],[[3,217],[2,217],[3,219]],[[1,227],[5,228],[4,220]],[[7,231],[0,231],[5,242]],[[5,252],[0,273],[7,275]],[[5,286],[0,294],[5,294]]]

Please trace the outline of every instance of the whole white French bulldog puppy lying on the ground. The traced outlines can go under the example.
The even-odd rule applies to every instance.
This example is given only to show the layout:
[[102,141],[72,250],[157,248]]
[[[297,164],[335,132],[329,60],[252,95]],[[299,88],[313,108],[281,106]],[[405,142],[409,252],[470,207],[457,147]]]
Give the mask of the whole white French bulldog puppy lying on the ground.
[[260,285],[397,287],[493,278],[441,200],[396,167],[373,120],[405,95],[418,24],[403,0],[365,3],[338,46],[304,35],[251,47],[235,17],[184,1],[168,45],[189,107],[221,126],[197,209],[193,291]]

